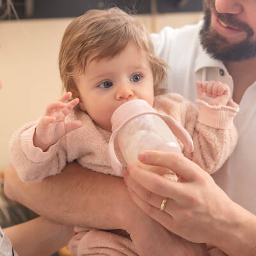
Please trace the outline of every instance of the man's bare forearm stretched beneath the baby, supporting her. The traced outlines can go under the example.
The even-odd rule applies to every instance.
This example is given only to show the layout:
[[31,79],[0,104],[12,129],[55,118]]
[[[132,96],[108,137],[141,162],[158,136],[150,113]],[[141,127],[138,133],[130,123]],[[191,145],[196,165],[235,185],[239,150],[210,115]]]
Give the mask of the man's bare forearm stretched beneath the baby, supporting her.
[[184,252],[205,255],[204,245],[164,231],[141,211],[131,200],[123,179],[86,170],[76,163],[67,164],[59,175],[33,184],[21,182],[10,166],[4,191],[13,200],[58,223],[127,230],[140,255],[161,256],[173,250],[176,256]]

